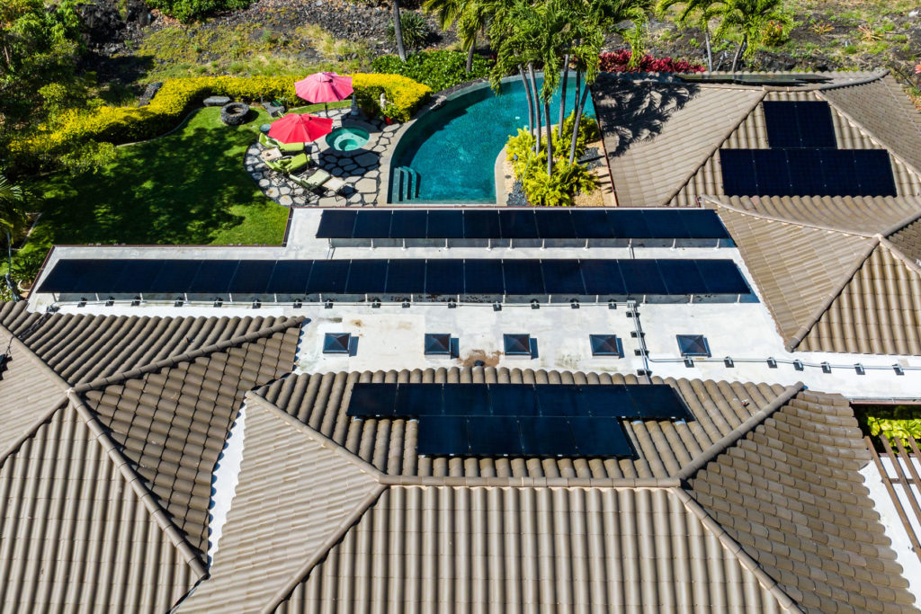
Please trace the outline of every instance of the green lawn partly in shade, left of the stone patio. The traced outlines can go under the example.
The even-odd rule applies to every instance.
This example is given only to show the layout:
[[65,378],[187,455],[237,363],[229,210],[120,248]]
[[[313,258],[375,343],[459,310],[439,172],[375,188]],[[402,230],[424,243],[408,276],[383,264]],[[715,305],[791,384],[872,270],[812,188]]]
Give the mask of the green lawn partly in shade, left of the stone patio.
[[22,255],[53,244],[280,244],[288,209],[243,169],[244,151],[268,121],[263,110],[251,114],[231,127],[220,109],[199,110],[168,136],[119,147],[95,174],[36,182],[41,218]]

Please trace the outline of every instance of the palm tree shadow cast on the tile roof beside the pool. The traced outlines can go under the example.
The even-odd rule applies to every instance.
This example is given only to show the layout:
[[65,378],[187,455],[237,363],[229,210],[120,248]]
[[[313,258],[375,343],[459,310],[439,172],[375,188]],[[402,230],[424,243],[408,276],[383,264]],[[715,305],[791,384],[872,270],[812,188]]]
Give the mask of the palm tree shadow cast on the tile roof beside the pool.
[[609,157],[657,136],[670,116],[700,91],[693,84],[651,83],[605,74],[599,75],[592,89]]

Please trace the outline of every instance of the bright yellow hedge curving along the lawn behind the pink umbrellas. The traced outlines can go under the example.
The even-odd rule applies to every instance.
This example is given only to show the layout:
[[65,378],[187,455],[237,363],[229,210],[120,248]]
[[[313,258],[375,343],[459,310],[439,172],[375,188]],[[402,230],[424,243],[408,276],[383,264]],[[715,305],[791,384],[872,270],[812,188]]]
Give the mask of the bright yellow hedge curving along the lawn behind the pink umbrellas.
[[[64,114],[53,126],[12,141],[10,161],[14,166],[36,167],[50,164],[57,156],[86,143],[118,145],[151,139],[175,127],[194,105],[208,96],[295,100],[294,82],[289,76],[168,79],[146,107],[102,106]],[[383,92],[388,100],[388,116],[399,122],[409,120],[431,94],[428,87],[402,75],[352,75],[352,85],[362,110],[372,116],[381,115],[379,98]]]

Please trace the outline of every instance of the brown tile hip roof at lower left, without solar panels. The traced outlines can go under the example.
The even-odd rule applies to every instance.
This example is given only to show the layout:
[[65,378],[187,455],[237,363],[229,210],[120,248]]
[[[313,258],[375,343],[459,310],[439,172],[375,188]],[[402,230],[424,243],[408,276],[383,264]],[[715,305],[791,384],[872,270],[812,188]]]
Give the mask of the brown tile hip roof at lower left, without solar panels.
[[[12,401],[0,407],[4,611],[163,612],[206,575],[211,474],[229,424],[246,390],[293,368],[302,319],[182,320],[0,306],[24,338],[0,326],[0,395]],[[125,339],[135,325],[159,332]],[[180,336],[192,330],[220,341],[190,349]],[[75,370],[80,360],[91,366]],[[62,372],[112,375],[72,387]]]

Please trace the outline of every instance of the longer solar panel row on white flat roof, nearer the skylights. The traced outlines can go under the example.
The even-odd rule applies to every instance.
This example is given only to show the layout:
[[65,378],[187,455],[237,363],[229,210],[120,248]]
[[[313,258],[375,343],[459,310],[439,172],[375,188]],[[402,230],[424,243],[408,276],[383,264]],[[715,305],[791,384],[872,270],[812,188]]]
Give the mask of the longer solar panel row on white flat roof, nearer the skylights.
[[[59,260],[68,295],[749,295],[730,260]],[[385,298],[381,298],[385,300]]]

